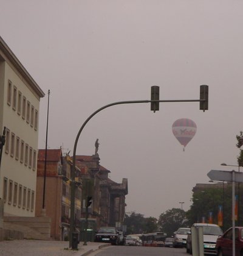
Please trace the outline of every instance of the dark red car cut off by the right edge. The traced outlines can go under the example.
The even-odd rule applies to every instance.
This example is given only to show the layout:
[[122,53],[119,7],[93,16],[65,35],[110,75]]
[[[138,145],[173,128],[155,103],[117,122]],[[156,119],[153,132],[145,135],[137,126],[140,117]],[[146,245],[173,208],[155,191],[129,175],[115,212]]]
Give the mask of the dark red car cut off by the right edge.
[[[231,256],[233,246],[232,227],[217,238],[216,250],[219,256]],[[243,227],[235,227],[235,253],[236,256],[243,256]]]

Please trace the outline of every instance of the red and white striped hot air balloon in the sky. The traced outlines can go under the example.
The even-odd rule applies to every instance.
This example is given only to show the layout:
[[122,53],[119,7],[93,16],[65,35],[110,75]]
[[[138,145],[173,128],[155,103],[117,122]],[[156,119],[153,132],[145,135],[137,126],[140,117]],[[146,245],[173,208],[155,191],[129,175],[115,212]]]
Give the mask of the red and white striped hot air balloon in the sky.
[[197,131],[197,126],[193,120],[187,118],[181,118],[174,121],[172,125],[172,131],[174,137],[177,138],[180,144],[184,146],[183,151],[185,151],[185,146],[194,137]]

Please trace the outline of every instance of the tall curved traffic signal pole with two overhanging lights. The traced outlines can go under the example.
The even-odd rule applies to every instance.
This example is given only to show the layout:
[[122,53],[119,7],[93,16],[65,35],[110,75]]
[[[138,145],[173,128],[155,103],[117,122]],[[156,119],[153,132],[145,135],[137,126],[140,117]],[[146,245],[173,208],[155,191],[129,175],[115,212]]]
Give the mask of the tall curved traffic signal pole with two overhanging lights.
[[[78,131],[77,137],[74,143],[74,151],[72,157],[72,169],[71,169],[71,199],[70,199],[70,229],[69,229],[69,247],[72,247],[72,233],[74,232],[74,212],[75,212],[75,165],[76,165],[76,151],[78,139],[80,138],[80,134],[83,131],[86,124],[89,120],[95,116],[97,113],[101,112],[105,108],[112,107],[114,105],[122,105],[122,104],[139,104],[139,103],[151,103],[152,105],[156,105],[159,102],[200,102],[200,110],[208,109],[208,85],[200,85],[200,99],[172,99],[172,100],[160,100],[159,98],[154,99],[154,97],[158,97],[158,91],[156,89],[154,96],[152,96],[152,88],[151,88],[151,100],[141,100],[141,101],[118,101],[108,105],[104,105],[101,108],[98,108],[94,113],[92,113],[86,121],[84,121],[83,125],[80,127]],[[156,112],[156,107],[151,107],[151,110]],[[73,249],[73,248],[72,248]]]

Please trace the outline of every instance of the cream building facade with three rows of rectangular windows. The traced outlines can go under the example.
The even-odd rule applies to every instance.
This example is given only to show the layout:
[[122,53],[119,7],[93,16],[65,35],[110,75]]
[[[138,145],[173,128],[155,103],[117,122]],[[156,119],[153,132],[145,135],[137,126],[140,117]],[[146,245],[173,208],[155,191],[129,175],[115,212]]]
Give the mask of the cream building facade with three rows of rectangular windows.
[[35,216],[39,101],[44,92],[0,37],[0,198],[5,216]]

